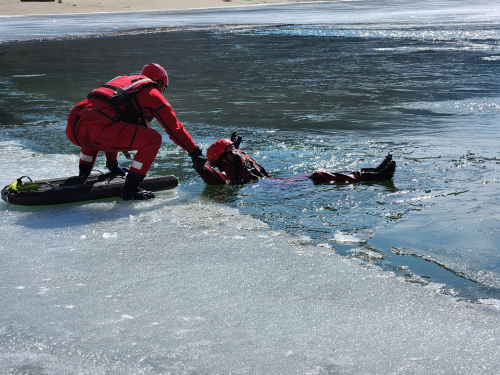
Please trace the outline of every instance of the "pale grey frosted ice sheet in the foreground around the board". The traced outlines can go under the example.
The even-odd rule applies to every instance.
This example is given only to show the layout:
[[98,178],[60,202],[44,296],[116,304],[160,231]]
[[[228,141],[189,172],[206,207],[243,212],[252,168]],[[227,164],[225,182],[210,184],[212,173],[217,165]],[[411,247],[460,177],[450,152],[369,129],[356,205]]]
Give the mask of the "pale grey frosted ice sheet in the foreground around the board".
[[[21,163],[68,173],[76,161],[33,158],[2,181]],[[0,218],[0,373],[500,371],[493,306],[286,243],[234,209],[169,199]]]

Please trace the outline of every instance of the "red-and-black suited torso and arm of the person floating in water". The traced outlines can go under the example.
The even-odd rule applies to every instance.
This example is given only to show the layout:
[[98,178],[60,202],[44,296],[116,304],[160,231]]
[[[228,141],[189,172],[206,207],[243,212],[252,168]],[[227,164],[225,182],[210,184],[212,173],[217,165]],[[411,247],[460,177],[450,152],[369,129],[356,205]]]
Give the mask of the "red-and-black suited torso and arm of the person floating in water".
[[203,168],[198,171],[203,181],[209,185],[237,184],[269,176],[261,165],[243,151],[235,149],[232,154],[235,164],[231,166],[223,164],[222,172],[205,163]]

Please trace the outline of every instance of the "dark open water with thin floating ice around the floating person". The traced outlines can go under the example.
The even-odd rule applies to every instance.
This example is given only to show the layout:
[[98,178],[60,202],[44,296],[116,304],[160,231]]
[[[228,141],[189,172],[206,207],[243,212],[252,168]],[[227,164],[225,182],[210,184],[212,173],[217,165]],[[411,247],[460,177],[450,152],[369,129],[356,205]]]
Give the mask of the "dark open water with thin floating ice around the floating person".
[[[164,141],[150,172],[178,176],[182,199],[238,207],[303,243],[334,246],[410,281],[446,283],[449,294],[500,297],[496,31],[349,30],[228,28],[4,44],[0,140],[77,154],[64,135],[71,106],[108,79],[158,62],[170,76],[165,97],[204,149],[237,130],[242,148],[283,178],[372,166],[387,152],[397,162],[383,183],[214,187]],[[43,75],[16,76],[33,74]]]

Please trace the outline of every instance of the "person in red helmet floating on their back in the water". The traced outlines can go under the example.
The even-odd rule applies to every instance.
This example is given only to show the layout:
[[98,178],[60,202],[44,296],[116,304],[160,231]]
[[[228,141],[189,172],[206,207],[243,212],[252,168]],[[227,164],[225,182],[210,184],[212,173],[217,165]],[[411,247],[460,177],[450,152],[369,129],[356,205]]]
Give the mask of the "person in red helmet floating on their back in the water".
[[[232,133],[230,140],[216,140],[206,149],[206,157],[199,155],[194,158],[192,167],[209,185],[238,184],[269,177],[261,165],[238,149],[240,142],[241,137],[236,139],[235,132]],[[392,160],[392,155],[389,153],[380,165],[374,168],[361,168],[342,173],[316,171],[300,177],[292,177],[292,179],[308,178],[314,183],[384,181],[392,178],[395,167],[396,162]]]

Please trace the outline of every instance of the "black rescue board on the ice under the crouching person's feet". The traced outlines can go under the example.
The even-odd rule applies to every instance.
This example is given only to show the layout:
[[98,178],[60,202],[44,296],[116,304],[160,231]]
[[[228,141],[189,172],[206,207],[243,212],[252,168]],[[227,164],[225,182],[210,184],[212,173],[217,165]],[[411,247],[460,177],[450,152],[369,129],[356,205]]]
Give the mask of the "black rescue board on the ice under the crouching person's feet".
[[[40,179],[33,181],[40,187],[34,191],[17,191],[8,195],[10,204],[18,205],[51,205],[81,202],[85,200],[113,198],[120,195],[125,178],[107,174],[90,174],[87,177],[64,177],[54,179]],[[149,191],[173,189],[179,180],[173,175],[145,177],[140,187]],[[1,198],[7,201],[5,186]]]

